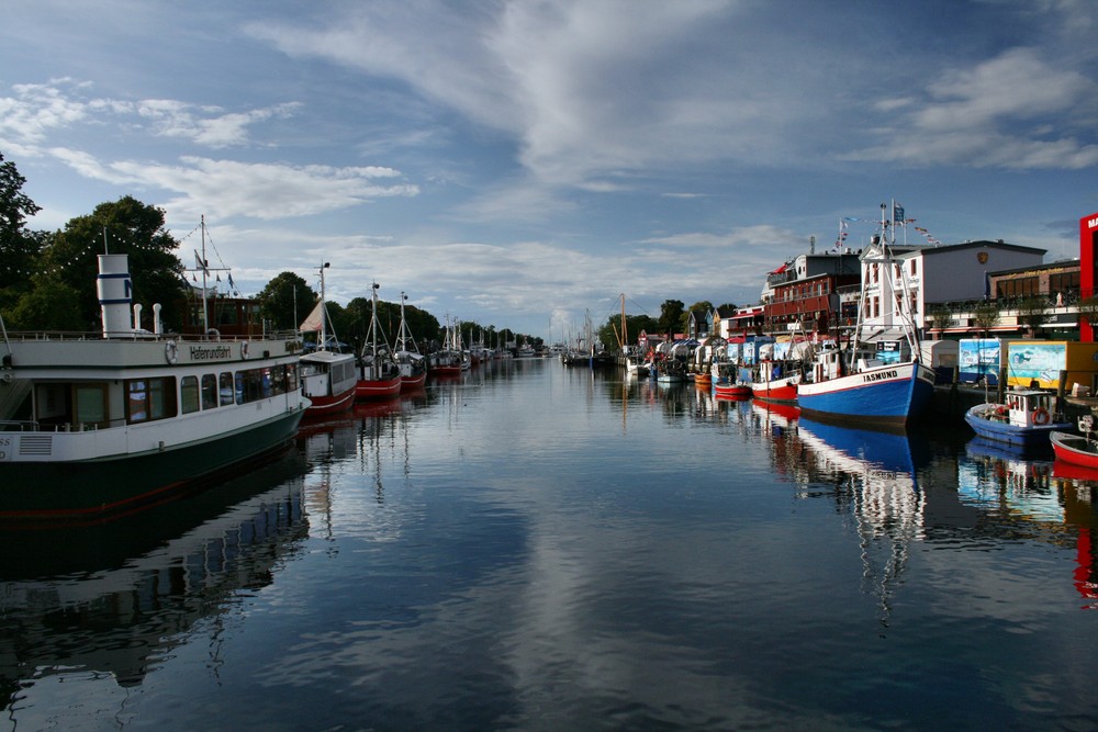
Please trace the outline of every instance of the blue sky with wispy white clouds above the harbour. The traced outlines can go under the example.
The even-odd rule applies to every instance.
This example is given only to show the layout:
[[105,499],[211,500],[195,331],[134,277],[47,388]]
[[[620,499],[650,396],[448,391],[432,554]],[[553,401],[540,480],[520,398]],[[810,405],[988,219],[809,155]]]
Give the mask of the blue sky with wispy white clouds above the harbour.
[[7,0],[0,154],[32,229],[132,195],[244,296],[330,262],[330,301],[562,340],[758,302],[892,201],[1077,257],[1096,40],[1093,0]]

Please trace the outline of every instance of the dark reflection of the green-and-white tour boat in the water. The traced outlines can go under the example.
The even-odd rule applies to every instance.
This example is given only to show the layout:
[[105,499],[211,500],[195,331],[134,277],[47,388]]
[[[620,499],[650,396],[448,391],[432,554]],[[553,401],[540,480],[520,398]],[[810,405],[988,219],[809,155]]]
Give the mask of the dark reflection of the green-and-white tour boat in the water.
[[138,685],[194,623],[271,583],[309,530],[301,458],[290,450],[247,477],[105,526],[5,536],[26,560],[5,563],[0,582],[9,709],[55,675]]

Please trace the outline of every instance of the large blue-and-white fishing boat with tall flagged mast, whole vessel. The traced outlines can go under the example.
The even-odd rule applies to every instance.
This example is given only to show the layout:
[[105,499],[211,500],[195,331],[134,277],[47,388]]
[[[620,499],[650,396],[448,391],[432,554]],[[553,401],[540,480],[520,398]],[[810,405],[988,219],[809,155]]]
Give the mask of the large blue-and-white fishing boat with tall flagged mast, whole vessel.
[[[919,342],[910,314],[910,297],[904,268],[893,261],[897,217],[881,206],[881,235],[874,236],[862,255],[863,282],[858,322],[844,348],[836,342],[815,350],[809,368],[797,386],[797,403],[805,413],[832,419],[858,419],[903,426],[923,412],[934,388],[934,372],[919,362]],[[889,243],[889,224],[892,241]],[[874,322],[866,335],[870,299],[896,305],[892,323]],[[875,309],[876,306],[874,306]],[[875,315],[875,313],[874,313]]]

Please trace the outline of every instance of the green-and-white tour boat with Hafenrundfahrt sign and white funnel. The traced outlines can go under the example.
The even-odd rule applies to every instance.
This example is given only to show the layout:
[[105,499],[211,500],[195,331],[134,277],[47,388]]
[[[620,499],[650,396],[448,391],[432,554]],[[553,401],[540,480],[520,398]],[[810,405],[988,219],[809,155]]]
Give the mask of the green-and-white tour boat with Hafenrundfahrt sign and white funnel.
[[296,333],[170,334],[159,305],[144,329],[127,255],[99,257],[97,286],[100,333],[0,327],[4,522],[94,522],[163,503],[287,447],[309,407]]

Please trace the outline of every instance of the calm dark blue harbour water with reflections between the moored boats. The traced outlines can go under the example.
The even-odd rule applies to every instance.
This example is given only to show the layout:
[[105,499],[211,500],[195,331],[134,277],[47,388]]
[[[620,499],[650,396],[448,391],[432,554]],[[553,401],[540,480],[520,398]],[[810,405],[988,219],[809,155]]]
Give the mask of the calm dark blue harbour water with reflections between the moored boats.
[[9,730],[1098,725],[1090,483],[497,362],[4,534]]

